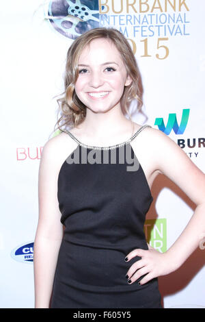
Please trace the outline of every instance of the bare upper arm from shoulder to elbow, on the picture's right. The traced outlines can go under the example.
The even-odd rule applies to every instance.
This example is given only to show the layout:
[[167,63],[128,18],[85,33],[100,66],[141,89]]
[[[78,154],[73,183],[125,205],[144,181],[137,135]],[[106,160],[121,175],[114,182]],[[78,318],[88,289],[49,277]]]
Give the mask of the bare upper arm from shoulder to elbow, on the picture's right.
[[195,203],[204,201],[205,175],[178,144],[159,129],[148,128],[144,137],[150,142],[154,167],[166,175]]

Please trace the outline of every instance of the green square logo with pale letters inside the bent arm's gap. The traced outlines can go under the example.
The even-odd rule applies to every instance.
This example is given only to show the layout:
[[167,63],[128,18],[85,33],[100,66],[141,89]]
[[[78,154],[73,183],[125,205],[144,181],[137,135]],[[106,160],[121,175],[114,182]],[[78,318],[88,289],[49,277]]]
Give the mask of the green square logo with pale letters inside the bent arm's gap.
[[151,247],[161,253],[167,251],[167,219],[147,219],[143,231]]

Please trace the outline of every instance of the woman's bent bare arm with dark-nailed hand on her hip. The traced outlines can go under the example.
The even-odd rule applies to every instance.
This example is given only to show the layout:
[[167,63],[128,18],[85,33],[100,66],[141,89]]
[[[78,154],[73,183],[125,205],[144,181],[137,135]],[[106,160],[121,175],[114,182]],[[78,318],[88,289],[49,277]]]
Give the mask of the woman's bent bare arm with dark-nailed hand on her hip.
[[134,249],[127,254],[128,260],[135,256],[141,257],[127,272],[131,283],[146,274],[140,284],[172,273],[197,247],[205,243],[205,175],[171,138],[158,129],[150,130],[154,147],[157,147],[153,160],[156,169],[177,184],[197,207],[176,242],[165,253],[148,245],[148,250]]

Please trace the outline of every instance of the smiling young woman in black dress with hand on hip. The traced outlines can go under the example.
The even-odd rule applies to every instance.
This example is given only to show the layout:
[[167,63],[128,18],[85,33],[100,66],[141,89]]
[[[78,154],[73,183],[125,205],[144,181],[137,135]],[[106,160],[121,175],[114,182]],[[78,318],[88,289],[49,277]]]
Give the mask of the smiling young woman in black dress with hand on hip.
[[[159,129],[126,118],[132,99],[140,110],[139,71],[124,36],[97,28],[74,40],[61,134],[40,160],[36,308],[161,308],[157,277],[178,269],[204,236],[204,173]],[[159,173],[197,205],[165,253],[143,233]]]

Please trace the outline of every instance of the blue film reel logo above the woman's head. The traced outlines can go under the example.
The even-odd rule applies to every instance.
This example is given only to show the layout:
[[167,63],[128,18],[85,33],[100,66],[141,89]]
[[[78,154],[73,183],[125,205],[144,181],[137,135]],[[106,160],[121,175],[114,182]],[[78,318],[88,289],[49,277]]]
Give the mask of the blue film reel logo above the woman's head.
[[75,39],[100,26],[98,0],[53,0],[44,10],[44,18],[60,34]]

